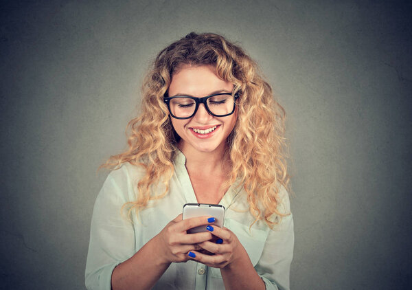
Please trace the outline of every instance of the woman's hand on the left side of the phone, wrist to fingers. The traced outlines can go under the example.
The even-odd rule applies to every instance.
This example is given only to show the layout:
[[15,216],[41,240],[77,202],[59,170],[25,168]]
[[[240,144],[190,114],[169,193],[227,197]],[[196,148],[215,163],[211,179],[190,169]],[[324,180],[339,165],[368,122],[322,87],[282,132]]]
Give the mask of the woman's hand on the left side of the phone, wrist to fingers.
[[199,225],[211,225],[214,221],[209,222],[211,216],[199,216],[192,219],[182,220],[182,214],[176,216],[176,219],[170,221],[159,234],[155,241],[157,243],[157,256],[161,257],[163,263],[181,263],[190,260],[187,253],[192,250],[201,249],[198,243],[209,241],[212,238],[210,232],[199,232],[196,234],[187,234],[187,230]]

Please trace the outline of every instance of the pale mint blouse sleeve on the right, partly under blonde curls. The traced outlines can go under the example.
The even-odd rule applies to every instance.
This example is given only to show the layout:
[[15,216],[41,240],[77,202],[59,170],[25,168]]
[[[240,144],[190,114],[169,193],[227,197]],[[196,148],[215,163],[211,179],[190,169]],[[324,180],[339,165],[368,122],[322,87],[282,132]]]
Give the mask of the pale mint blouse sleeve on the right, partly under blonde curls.
[[279,210],[289,215],[282,217],[279,224],[269,231],[262,256],[255,266],[268,290],[290,289],[290,263],[293,259],[295,235],[288,192],[284,188],[282,188],[281,197],[282,205]]

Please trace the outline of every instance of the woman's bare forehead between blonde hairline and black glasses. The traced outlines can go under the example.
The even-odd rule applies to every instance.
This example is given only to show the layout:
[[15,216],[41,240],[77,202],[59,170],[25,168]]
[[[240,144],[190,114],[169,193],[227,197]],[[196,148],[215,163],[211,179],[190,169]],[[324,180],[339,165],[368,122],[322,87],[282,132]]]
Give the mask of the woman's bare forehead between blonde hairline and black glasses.
[[203,97],[213,91],[232,91],[233,84],[219,78],[212,65],[183,65],[172,75],[169,96]]

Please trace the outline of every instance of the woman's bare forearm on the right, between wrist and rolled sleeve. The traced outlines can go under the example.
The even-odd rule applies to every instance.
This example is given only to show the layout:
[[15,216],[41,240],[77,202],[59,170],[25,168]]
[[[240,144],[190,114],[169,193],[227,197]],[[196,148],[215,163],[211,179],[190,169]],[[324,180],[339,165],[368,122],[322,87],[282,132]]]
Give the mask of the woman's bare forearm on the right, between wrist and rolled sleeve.
[[[244,251],[244,249],[243,249]],[[263,280],[256,273],[246,251],[242,258],[220,269],[225,289],[256,289],[264,290]]]

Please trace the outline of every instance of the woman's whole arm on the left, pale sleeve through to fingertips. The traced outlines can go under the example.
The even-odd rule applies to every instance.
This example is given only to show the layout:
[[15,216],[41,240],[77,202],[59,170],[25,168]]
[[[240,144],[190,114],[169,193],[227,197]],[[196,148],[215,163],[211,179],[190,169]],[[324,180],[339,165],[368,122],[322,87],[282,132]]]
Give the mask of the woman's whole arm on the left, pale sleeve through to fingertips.
[[211,224],[207,218],[168,223],[146,245],[136,249],[135,228],[120,208],[128,201],[126,175],[111,172],[95,201],[91,221],[86,287],[89,290],[149,289],[172,262],[184,262],[187,252],[211,238],[208,232],[186,234],[196,225]]

